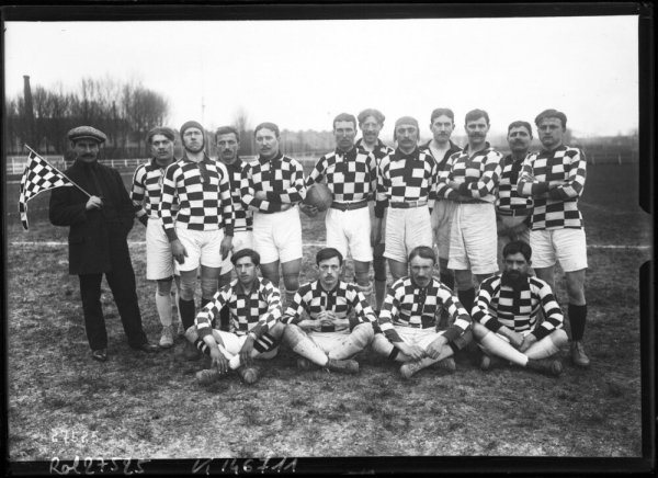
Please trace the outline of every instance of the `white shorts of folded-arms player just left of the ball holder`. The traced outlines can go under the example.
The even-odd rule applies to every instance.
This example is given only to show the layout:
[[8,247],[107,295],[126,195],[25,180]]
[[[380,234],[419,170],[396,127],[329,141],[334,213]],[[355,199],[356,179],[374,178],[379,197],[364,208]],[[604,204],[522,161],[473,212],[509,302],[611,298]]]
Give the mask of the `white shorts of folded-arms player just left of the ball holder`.
[[261,264],[302,259],[302,223],[297,207],[283,213],[256,213],[253,250],[260,254]]

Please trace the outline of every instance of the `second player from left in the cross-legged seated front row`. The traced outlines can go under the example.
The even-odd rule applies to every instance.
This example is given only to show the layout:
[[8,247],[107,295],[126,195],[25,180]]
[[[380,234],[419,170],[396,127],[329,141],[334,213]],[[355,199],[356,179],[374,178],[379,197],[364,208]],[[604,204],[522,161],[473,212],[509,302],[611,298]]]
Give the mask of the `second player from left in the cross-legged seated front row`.
[[[299,369],[309,369],[314,363],[332,372],[358,374],[359,363],[352,357],[373,340],[377,318],[363,294],[340,281],[343,257],[338,250],[320,250],[316,264],[319,278],[299,287],[283,315],[283,341],[302,355]],[[354,326],[348,318],[352,310]]]

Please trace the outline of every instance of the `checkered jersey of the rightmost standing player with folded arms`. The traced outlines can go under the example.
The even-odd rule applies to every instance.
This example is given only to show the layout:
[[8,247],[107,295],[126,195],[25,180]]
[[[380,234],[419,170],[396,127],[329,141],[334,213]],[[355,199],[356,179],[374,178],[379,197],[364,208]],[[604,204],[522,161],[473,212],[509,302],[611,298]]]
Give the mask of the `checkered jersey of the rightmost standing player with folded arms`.
[[[533,175],[534,181],[524,174]],[[518,191],[523,196],[534,197],[533,230],[582,228],[578,197],[582,194],[586,175],[587,160],[578,148],[561,145],[553,151],[543,150],[525,158]],[[536,193],[541,182],[558,185],[540,196]]]

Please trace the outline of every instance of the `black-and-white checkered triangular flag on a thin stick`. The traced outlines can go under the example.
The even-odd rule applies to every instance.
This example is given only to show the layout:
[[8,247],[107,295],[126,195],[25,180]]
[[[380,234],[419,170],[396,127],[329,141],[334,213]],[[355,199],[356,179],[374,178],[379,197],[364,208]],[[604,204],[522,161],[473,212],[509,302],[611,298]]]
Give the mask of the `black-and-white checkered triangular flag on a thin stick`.
[[21,213],[23,229],[27,230],[27,201],[42,191],[72,185],[75,184],[71,180],[31,150],[27,166],[21,179],[21,195],[19,196],[19,213]]

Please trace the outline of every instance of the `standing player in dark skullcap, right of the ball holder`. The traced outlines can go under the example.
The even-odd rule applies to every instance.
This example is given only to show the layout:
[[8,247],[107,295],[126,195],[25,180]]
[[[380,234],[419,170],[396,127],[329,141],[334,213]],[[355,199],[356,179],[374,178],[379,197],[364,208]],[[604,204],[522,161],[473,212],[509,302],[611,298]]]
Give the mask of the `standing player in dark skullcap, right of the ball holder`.
[[398,147],[379,164],[373,235],[375,243],[378,242],[384,210],[388,208],[384,255],[388,258],[394,281],[407,275],[411,249],[432,246],[429,196],[436,183],[438,167],[432,155],[418,149],[418,133],[415,118],[399,118],[395,123]]

